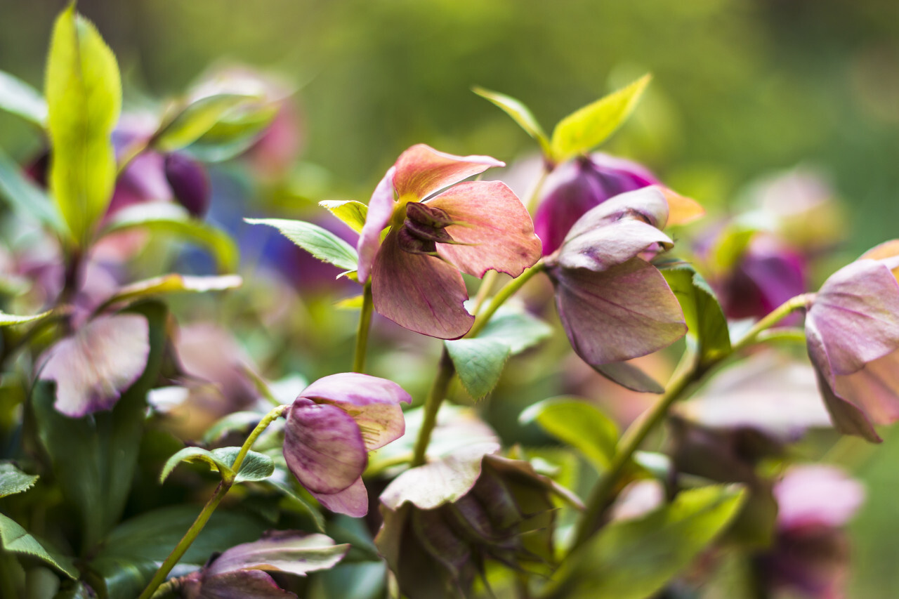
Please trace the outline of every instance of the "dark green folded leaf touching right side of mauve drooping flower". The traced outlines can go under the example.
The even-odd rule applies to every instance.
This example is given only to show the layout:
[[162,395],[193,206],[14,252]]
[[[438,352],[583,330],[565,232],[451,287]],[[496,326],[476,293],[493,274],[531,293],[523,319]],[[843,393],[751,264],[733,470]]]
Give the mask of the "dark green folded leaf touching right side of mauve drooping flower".
[[689,264],[663,268],[662,273],[681,302],[690,335],[699,341],[699,363],[705,365],[730,353],[727,318],[702,275]]

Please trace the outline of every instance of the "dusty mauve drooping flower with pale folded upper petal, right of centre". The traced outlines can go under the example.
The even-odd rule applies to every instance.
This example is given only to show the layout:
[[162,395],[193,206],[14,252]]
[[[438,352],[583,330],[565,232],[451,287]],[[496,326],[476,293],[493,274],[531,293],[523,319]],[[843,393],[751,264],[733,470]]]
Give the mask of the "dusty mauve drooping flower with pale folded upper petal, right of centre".
[[622,193],[578,219],[547,257],[556,308],[574,352],[628,389],[653,388],[645,375],[616,362],[653,353],[687,332],[662,273],[641,257],[673,245],[660,230],[668,215],[658,187]]

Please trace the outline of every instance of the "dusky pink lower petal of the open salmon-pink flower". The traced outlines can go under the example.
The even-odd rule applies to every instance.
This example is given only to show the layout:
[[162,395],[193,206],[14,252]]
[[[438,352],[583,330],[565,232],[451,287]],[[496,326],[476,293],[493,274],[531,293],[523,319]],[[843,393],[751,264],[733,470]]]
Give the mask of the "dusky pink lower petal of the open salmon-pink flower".
[[404,252],[396,231],[378,251],[371,293],[378,314],[422,335],[458,339],[475,322],[465,309],[468,292],[458,270],[440,258]]

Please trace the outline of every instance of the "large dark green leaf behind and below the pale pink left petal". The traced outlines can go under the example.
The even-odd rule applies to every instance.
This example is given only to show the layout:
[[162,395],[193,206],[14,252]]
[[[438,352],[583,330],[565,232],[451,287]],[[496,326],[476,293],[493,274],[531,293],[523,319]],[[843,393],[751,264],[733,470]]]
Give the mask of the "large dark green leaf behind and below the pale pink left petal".
[[127,312],[149,322],[150,353],[140,378],[115,407],[93,416],[70,418],[53,407],[56,384],[40,380],[32,390],[40,443],[67,500],[81,517],[85,549],[119,521],[131,488],[147,412],[147,391],[156,382],[165,341],[166,311],[145,302]]

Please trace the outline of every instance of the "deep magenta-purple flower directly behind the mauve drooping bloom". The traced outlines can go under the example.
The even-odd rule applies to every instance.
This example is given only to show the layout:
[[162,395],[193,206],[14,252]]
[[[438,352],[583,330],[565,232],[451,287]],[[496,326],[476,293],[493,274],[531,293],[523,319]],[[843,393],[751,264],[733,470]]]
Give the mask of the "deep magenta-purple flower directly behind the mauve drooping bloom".
[[543,201],[534,215],[543,254],[562,246],[569,229],[588,210],[620,193],[656,184],[645,166],[599,152],[559,165],[547,177]]

